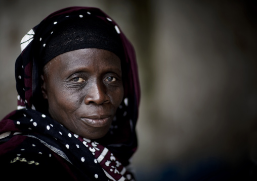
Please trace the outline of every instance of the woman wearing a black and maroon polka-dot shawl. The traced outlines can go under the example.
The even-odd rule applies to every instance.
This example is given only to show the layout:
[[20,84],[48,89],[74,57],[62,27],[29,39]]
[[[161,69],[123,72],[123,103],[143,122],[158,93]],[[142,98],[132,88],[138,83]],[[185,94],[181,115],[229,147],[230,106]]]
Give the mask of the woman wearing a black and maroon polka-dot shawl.
[[134,48],[97,8],[49,15],[21,41],[18,110],[0,122],[1,178],[134,180]]

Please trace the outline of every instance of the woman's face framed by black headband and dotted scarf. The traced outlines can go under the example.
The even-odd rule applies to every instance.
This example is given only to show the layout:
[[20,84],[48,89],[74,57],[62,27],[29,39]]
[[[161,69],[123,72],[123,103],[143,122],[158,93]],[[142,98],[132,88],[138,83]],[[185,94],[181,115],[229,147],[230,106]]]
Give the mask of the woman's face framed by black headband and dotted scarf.
[[119,57],[79,49],[58,55],[44,70],[42,93],[51,116],[84,138],[105,136],[123,98]]

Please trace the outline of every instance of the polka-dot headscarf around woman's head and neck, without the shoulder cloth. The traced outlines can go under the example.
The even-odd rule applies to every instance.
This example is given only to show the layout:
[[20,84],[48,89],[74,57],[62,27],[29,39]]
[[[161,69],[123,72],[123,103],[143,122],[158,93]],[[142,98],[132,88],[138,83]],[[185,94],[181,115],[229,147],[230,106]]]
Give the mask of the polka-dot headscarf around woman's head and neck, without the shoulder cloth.
[[[57,122],[53,122],[48,113],[46,100],[42,98],[41,94],[40,74],[42,65],[44,66],[44,64],[40,62],[41,58],[39,54],[44,51],[51,34],[58,25],[65,24],[67,18],[82,19],[86,16],[93,16],[96,19],[101,19],[102,22],[108,24],[108,26],[112,26],[116,31],[121,40],[123,49],[121,59],[121,65],[123,65],[122,72],[126,72],[122,78],[124,86],[122,103],[116,111],[109,132],[105,137],[98,140],[88,140],[75,134],[71,136],[72,133],[66,128],[58,126],[60,124]],[[100,171],[101,168],[99,168],[99,165],[93,168],[92,166],[90,168],[87,166],[91,165],[92,162],[99,162],[102,168],[105,167],[104,173],[107,176],[115,172],[115,174],[111,175],[113,180],[118,180],[122,176],[124,177],[126,171],[122,165],[128,165],[128,160],[137,149],[135,127],[138,118],[140,87],[135,50],[115,21],[97,8],[65,8],[52,13],[40,24],[32,28],[22,38],[21,50],[22,52],[15,64],[18,110],[12,112],[0,122],[0,136],[9,131],[11,131],[12,134],[13,132],[26,133],[26,135],[30,135],[30,137],[37,137],[38,133],[40,133],[42,134],[40,140],[43,140],[44,143],[46,142],[47,145],[54,144],[52,138],[55,138],[66,147],[66,150],[75,149],[75,156],[77,159],[73,158],[74,155],[71,159],[71,157],[68,156],[71,153],[67,153],[66,150],[64,152],[65,156],[62,156],[73,165],[77,164],[81,169],[83,169],[82,167],[86,167],[89,174],[93,174],[93,170],[99,171],[99,173],[91,175],[91,177],[104,177],[103,173]],[[36,134],[33,135],[34,133]],[[80,140],[80,143],[77,143],[77,140]],[[94,157],[90,158],[88,155],[85,155],[87,156],[87,158],[85,158],[83,157],[84,153],[82,151],[77,151],[77,149],[81,148],[83,145],[89,148],[90,153],[94,153]],[[56,147],[58,148],[58,146]],[[62,148],[59,150],[62,151]],[[112,163],[109,163],[108,161],[117,161],[117,167],[111,165]],[[83,166],[81,166],[81,164]],[[120,165],[121,167],[119,167]],[[114,167],[116,170],[114,170]],[[108,171],[106,172],[107,169]],[[85,171],[83,170],[83,172]]]

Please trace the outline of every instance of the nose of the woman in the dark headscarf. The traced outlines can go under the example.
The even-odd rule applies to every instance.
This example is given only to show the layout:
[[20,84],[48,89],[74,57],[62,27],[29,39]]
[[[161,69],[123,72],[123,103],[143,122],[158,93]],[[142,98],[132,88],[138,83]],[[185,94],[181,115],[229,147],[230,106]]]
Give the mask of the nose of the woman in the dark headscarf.
[[85,95],[85,104],[101,105],[110,101],[109,96],[106,94],[105,86],[101,83],[92,83],[88,85],[87,94]]

